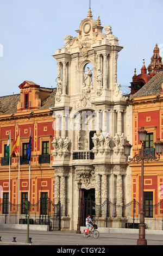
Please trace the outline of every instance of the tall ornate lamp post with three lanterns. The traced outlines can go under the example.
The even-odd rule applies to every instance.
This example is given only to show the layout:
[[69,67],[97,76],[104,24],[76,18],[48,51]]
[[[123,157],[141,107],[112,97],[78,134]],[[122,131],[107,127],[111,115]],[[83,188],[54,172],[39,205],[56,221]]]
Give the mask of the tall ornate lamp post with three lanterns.
[[144,127],[141,127],[139,133],[139,138],[141,141],[141,149],[139,150],[139,154],[135,155],[133,159],[129,157],[132,145],[127,142],[123,145],[124,147],[124,155],[127,157],[127,162],[137,162],[141,161],[141,211],[140,211],[140,224],[139,224],[139,239],[137,240],[137,245],[147,245],[147,240],[145,239],[145,216],[144,216],[144,193],[143,193],[143,173],[144,173],[144,161],[159,161],[160,155],[162,153],[162,142],[160,139],[154,143],[155,151],[157,156],[152,156],[151,154],[147,153],[147,149],[145,147],[146,143],[146,135],[147,131],[144,130]]

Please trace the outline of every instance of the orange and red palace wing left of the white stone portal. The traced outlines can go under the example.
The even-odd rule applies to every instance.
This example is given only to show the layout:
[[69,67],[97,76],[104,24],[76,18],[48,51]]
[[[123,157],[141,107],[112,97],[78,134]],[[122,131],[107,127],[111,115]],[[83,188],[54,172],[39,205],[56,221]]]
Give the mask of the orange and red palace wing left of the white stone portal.
[[[49,164],[53,162],[51,142],[55,131],[49,108],[54,105],[56,89],[43,88],[32,81],[24,81],[19,88],[20,94],[0,97],[0,203],[7,199],[17,205],[29,199],[35,204],[40,197],[49,197],[54,202],[54,170]],[[16,156],[11,157],[9,168],[5,153],[8,138],[10,135],[11,152],[19,132],[20,154],[17,151]],[[27,147],[30,135],[29,186]],[[0,212],[3,213],[2,205]]]

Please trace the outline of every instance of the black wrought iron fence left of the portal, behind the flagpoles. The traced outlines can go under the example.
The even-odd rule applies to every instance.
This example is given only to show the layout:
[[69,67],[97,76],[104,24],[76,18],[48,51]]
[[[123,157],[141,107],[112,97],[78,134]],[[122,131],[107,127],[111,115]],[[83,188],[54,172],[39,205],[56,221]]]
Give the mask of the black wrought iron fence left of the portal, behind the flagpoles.
[[[24,203],[16,205],[3,200],[0,204],[0,223],[27,224],[27,210],[24,208]],[[29,224],[49,225],[51,230],[60,230],[60,202],[54,204],[49,198],[40,198],[36,204],[30,204]]]

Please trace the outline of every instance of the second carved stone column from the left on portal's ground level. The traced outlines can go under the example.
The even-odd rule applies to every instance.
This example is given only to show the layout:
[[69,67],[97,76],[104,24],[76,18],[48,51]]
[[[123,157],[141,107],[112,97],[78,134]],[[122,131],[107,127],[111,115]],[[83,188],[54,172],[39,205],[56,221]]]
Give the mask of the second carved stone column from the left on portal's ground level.
[[60,177],[60,203],[61,215],[66,215],[66,176]]

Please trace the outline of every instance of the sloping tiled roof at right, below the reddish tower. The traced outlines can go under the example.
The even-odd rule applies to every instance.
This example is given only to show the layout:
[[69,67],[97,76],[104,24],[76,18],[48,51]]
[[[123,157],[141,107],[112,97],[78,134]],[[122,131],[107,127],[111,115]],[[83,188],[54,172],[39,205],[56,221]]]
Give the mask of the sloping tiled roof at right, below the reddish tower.
[[148,95],[157,95],[161,92],[163,83],[163,70],[159,71],[151,80],[149,80],[138,92],[132,95],[135,97],[142,97]]

